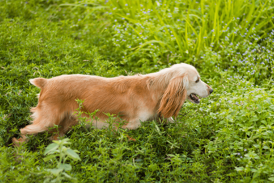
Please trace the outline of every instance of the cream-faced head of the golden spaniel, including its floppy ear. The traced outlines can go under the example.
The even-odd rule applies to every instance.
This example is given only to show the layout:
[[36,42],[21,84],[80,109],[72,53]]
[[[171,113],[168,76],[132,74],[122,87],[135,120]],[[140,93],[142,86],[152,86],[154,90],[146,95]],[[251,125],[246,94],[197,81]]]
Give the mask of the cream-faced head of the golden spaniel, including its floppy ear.
[[205,98],[213,92],[213,89],[201,80],[196,68],[191,65],[175,64],[167,72],[172,73],[171,79],[159,109],[165,118],[177,116],[186,99],[198,104],[199,97]]

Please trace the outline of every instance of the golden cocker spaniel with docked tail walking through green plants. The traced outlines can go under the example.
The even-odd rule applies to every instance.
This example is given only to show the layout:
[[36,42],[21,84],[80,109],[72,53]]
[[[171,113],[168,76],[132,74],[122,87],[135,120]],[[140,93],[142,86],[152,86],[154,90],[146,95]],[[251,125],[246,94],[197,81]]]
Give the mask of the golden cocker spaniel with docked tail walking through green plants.
[[[14,146],[25,142],[27,134],[37,135],[54,124],[61,126],[59,135],[64,136],[69,127],[78,123],[76,99],[85,100],[81,110],[86,113],[82,117],[87,117],[93,126],[107,127],[106,113],[110,113],[126,122],[123,128],[136,129],[141,121],[173,122],[172,116],[177,117],[186,99],[198,104],[198,97],[205,98],[213,92],[195,67],[186,63],[145,75],[105,78],[72,74],[50,79],[38,77],[30,79],[30,83],[41,89],[38,104],[31,109],[32,124],[20,129],[19,139],[12,139]],[[97,119],[87,114],[97,109]],[[58,135],[52,137],[57,138]]]

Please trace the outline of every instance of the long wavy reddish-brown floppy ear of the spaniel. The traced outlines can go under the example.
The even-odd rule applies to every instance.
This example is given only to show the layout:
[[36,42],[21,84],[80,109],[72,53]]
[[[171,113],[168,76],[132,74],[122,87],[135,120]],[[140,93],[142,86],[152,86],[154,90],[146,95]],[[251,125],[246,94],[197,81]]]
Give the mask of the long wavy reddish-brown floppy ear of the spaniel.
[[162,97],[158,113],[162,114],[164,118],[177,116],[187,98],[187,85],[186,74],[173,77]]

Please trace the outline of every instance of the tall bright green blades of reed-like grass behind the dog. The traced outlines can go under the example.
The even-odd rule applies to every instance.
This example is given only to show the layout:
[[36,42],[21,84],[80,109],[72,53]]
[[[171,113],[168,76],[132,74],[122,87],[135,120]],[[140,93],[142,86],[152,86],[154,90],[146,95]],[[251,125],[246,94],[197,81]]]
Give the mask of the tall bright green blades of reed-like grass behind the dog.
[[184,57],[198,56],[205,47],[218,49],[221,41],[239,42],[254,33],[260,40],[274,28],[269,1],[122,0],[106,5],[132,28],[143,24],[151,38],[147,41],[159,41],[164,49],[177,50]]

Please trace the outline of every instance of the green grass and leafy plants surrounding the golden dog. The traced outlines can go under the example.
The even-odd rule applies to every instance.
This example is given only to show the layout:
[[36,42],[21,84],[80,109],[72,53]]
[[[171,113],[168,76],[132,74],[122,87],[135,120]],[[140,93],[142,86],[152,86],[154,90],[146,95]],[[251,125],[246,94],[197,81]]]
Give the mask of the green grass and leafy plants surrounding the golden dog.
[[[0,182],[273,182],[273,8],[273,1],[0,1]],[[199,105],[185,102],[177,123],[113,131],[79,118],[69,140],[29,136],[14,158],[11,138],[37,105],[29,79],[145,74],[181,62],[214,92]]]

